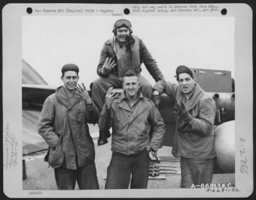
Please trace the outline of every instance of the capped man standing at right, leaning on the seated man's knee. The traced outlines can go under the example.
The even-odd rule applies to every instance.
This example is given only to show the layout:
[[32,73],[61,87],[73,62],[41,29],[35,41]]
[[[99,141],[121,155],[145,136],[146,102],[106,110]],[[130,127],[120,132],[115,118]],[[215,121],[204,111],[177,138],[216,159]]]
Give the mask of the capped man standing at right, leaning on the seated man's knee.
[[172,154],[180,157],[180,187],[201,187],[201,184],[212,182],[216,106],[212,97],[195,82],[193,70],[178,66],[176,78],[179,84],[157,82],[153,87],[153,99],[159,104],[161,93],[175,98],[176,131]]

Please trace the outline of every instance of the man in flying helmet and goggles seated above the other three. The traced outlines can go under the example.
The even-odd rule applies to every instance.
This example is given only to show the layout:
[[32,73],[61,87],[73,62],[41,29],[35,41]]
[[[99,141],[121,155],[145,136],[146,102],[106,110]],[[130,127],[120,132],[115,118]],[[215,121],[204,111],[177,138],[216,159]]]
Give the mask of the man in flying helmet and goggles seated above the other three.
[[[104,43],[97,74],[99,77],[92,82],[92,101],[99,112],[102,111],[105,95],[109,87],[122,88],[122,78],[128,69],[138,74],[143,96],[152,97],[152,86],[145,77],[140,75],[141,63],[144,63],[148,72],[157,82],[163,80],[163,73],[159,70],[156,61],[152,58],[147,47],[138,36],[132,36],[132,24],[129,20],[117,20],[113,27],[113,38]],[[106,144],[110,137],[109,130],[100,132],[98,145]]]

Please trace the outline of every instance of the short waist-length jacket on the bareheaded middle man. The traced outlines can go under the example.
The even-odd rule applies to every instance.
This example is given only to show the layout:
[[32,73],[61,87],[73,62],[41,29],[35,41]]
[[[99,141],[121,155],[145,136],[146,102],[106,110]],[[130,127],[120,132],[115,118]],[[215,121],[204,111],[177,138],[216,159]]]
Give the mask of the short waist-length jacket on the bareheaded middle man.
[[132,111],[124,92],[111,109],[104,105],[98,125],[103,132],[112,127],[111,150],[126,155],[140,153],[147,145],[157,151],[165,132],[163,118],[151,100],[140,94]]

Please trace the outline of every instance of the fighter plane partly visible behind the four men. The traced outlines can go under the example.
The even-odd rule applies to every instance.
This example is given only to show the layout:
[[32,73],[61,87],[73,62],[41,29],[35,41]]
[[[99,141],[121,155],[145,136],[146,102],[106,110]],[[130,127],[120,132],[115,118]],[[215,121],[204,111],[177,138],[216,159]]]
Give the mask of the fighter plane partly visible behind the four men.
[[[47,149],[47,144],[36,133],[36,119],[40,114],[45,98],[55,92],[54,87],[48,86],[33,68],[22,60],[22,120],[23,133],[35,132],[33,137],[40,143],[41,149]],[[209,93],[216,102],[216,118],[214,123],[214,144],[217,158],[214,173],[235,172],[235,93],[234,79],[231,72],[226,70],[205,70],[193,68],[196,82]],[[34,77],[31,79],[31,77]],[[120,89],[116,89],[120,92]],[[90,93],[90,91],[89,91]],[[166,93],[161,95],[159,112],[166,124],[163,146],[173,145],[175,118],[173,114],[175,99]],[[29,117],[30,116],[30,117]],[[31,116],[33,116],[31,118]],[[33,120],[31,120],[33,119]],[[25,148],[26,146],[26,148]],[[23,153],[36,151],[33,141],[23,141]]]

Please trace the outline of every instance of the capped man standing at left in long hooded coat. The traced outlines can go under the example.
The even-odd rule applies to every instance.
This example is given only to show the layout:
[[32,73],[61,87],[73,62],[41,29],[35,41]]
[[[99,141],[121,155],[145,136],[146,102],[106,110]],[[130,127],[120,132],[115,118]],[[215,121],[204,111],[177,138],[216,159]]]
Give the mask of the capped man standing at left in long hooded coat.
[[99,189],[95,150],[87,123],[97,123],[99,115],[86,88],[78,84],[79,68],[61,69],[63,86],[48,96],[38,123],[38,133],[49,145],[45,161],[54,168],[59,190]]

